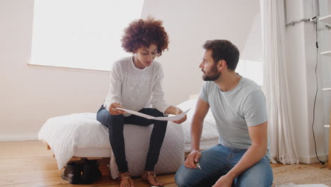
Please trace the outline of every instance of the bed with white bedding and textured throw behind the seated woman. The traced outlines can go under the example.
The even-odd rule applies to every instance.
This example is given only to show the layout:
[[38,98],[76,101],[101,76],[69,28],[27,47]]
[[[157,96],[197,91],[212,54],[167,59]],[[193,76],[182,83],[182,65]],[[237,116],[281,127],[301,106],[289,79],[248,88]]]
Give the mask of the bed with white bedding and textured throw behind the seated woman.
[[[193,98],[178,105],[183,111],[188,108],[191,110],[187,113],[187,120],[184,123],[180,125],[168,123],[155,168],[156,173],[168,174],[177,171],[184,162],[185,152],[190,152],[190,122],[196,102],[197,98]],[[62,169],[71,160],[109,157],[110,174],[113,179],[116,179],[118,171],[108,139],[108,129],[95,118],[95,113],[74,113],[50,118],[40,129],[39,140],[52,149],[57,159],[58,169]],[[144,168],[152,128],[152,125],[148,127],[124,125],[125,149],[132,153],[127,153],[127,162],[132,176],[141,175],[141,168]],[[217,143],[215,120],[209,111],[204,120],[200,148],[207,149]]]

